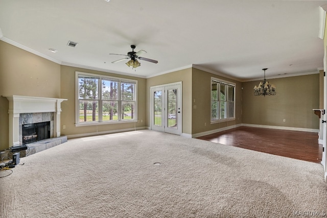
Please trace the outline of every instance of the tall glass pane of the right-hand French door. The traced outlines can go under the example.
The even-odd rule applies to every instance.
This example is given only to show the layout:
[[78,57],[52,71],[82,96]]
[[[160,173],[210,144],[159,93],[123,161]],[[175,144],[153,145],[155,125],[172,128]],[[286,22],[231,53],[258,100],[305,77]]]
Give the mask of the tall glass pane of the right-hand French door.
[[168,89],[168,119],[167,126],[170,128],[177,128],[177,89]]

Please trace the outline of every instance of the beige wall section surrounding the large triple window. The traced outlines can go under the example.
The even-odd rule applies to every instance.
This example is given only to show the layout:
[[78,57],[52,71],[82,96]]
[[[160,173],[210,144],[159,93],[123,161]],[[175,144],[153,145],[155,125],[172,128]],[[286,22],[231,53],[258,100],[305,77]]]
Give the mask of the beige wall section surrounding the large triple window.
[[[112,77],[128,78],[137,80],[137,118],[143,123],[125,123],[125,124],[106,124],[97,126],[75,127],[75,71],[87,72],[89,74],[100,74]],[[82,69],[70,66],[61,66],[61,98],[67,99],[61,103],[61,127],[65,125],[66,128],[61,128],[61,134],[70,137],[78,136],[78,134],[97,134],[106,131],[116,131],[131,129],[135,127],[145,127],[146,124],[146,79],[129,77],[117,74],[110,74],[108,72]]]

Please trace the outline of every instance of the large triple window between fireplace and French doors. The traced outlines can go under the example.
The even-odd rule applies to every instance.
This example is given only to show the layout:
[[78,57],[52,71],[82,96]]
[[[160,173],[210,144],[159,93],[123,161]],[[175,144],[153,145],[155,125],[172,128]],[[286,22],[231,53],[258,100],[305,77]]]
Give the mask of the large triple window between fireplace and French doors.
[[136,80],[76,72],[76,124],[134,122]]

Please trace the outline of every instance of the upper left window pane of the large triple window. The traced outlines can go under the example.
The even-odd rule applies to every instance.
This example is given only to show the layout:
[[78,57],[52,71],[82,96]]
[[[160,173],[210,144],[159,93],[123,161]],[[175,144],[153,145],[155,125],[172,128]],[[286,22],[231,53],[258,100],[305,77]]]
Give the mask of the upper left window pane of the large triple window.
[[99,99],[98,84],[99,78],[78,77],[79,99]]

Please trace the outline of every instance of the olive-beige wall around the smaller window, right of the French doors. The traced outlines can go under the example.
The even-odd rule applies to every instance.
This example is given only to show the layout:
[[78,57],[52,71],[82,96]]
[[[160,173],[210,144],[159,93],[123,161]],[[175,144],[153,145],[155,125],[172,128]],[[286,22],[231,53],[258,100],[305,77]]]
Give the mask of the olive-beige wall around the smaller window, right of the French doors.
[[[210,124],[211,121],[211,77],[236,83],[235,89],[235,120],[228,122]],[[192,134],[218,130],[224,127],[242,123],[242,91],[241,82],[227,79],[209,72],[193,68],[192,70]],[[195,102],[194,102],[195,100]],[[196,106],[196,109],[194,108]]]

